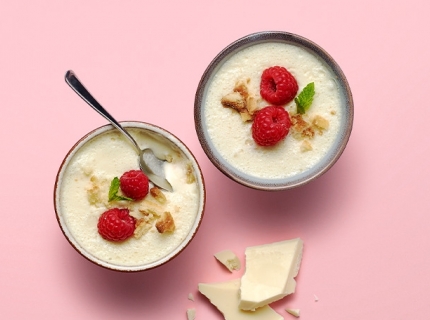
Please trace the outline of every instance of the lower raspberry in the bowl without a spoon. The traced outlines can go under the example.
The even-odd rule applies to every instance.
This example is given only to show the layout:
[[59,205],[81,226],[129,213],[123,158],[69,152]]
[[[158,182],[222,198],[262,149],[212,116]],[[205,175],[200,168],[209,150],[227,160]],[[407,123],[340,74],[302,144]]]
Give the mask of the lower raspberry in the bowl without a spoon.
[[252,137],[260,146],[273,146],[287,136],[290,127],[290,115],[283,107],[267,106],[254,118]]

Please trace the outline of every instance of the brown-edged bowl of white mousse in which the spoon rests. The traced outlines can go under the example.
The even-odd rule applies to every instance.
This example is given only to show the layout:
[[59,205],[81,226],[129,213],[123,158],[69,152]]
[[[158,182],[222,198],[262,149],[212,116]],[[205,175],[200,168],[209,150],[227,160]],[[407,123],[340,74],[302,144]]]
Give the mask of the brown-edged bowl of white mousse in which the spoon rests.
[[[205,186],[196,159],[177,137],[143,122],[121,124],[140,147],[166,159],[173,192],[147,181],[143,198],[130,198],[122,179],[140,172],[138,155],[123,134],[106,125],[80,139],[65,157],[54,205],[65,237],[85,258],[116,271],[143,271],[170,261],[193,239],[204,213]],[[103,224],[102,216],[120,211],[131,230],[127,225],[118,233],[116,222]]]

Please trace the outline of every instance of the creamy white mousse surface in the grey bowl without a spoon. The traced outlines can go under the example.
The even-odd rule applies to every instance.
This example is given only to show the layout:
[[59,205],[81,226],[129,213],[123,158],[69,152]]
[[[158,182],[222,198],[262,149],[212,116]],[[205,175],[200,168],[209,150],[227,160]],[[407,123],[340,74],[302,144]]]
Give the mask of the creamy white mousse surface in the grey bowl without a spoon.
[[[260,96],[262,72],[272,66],[285,67],[297,80],[299,92],[310,82],[315,96],[306,116],[316,115],[328,120],[323,134],[315,134],[311,150],[303,150],[303,141],[290,133],[273,147],[258,146],[251,135],[252,122],[243,122],[240,115],[221,104],[223,96],[232,92],[236,82],[249,78],[249,89],[258,99],[259,107],[270,105]],[[286,105],[291,114],[295,102]],[[218,153],[237,170],[262,179],[284,179],[314,167],[334,145],[340,130],[341,93],[331,69],[310,51],[281,42],[251,45],[234,53],[217,70],[208,83],[203,101],[207,134]]]

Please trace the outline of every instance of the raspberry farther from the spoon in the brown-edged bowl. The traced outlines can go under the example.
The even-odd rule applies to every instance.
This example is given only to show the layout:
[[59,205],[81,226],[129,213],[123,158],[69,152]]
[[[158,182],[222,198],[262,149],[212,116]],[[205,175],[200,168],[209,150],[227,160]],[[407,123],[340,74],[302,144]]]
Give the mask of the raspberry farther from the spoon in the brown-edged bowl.
[[135,224],[136,218],[128,209],[113,208],[100,216],[97,228],[104,239],[122,241],[133,235]]

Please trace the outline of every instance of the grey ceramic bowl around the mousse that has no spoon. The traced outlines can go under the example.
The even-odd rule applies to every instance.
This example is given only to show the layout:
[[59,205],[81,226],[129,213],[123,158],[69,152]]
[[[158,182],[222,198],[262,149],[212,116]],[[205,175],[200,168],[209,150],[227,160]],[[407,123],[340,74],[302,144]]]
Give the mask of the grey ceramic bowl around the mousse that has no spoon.
[[[226,157],[223,156],[223,151],[220,151],[219,142],[214,141],[213,138],[214,131],[225,129],[223,128],[224,124],[221,123],[219,127],[213,128],[211,127],[211,125],[213,124],[209,125],[207,121],[210,116],[208,115],[209,107],[207,107],[206,105],[206,99],[210,94],[209,92],[211,90],[211,83],[213,79],[216,79],[217,77],[217,72],[220,69],[222,70],[224,64],[226,64],[227,62],[230,63],[230,59],[232,57],[235,57],[237,54],[241,54],[242,52],[244,52],[243,50],[248,50],[249,48],[256,45],[271,43],[293,45],[294,47],[303,49],[305,52],[307,52],[307,54],[316,57],[317,60],[320,61],[325,67],[325,69],[328,70],[328,72],[330,73],[330,81],[333,81],[333,83],[335,84],[335,87],[337,88],[336,92],[338,92],[338,101],[340,101],[337,104],[339,110],[337,115],[339,117],[339,120],[337,120],[337,123],[339,123],[339,128],[326,154],[322,157],[322,159],[320,159],[310,168],[302,170],[302,172],[298,172],[297,174],[294,173],[293,175],[288,177],[261,177],[257,174],[250,174],[249,172],[247,172],[246,169],[238,168],[236,164],[233,163],[233,161],[227,161]],[[250,58],[249,61],[241,68],[246,70],[246,66],[252,66],[252,64],[253,60],[252,58]],[[261,70],[261,72],[262,71],[263,70]],[[299,85],[299,91],[300,90],[301,88]],[[225,91],[224,93],[227,92]],[[223,108],[220,102],[219,108]],[[232,116],[235,116],[233,111],[231,113]],[[345,75],[343,74],[337,63],[334,61],[334,59],[325,50],[323,50],[317,44],[313,43],[308,39],[305,39],[295,34],[276,31],[250,34],[233,42],[225,49],[223,49],[213,59],[213,61],[209,64],[209,66],[203,73],[203,76],[197,88],[194,103],[194,119],[197,135],[206,155],[209,157],[212,163],[222,173],[224,173],[226,176],[233,179],[234,181],[247,187],[267,191],[285,190],[301,186],[314,180],[315,178],[321,176],[323,173],[329,170],[339,159],[347,145],[352,130],[353,114],[354,110],[351,90],[349,88]],[[251,137],[250,132],[249,135]],[[247,143],[249,144],[249,140],[247,141]],[[238,142],[237,140],[230,140],[227,138],[224,139],[222,143],[234,144],[244,142]],[[253,141],[251,140],[251,144],[252,143]],[[306,155],[304,154],[304,156]],[[276,166],[277,164],[271,163],[270,161],[265,161],[262,165]]]

